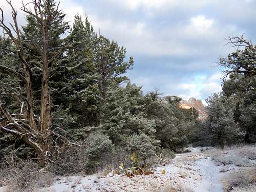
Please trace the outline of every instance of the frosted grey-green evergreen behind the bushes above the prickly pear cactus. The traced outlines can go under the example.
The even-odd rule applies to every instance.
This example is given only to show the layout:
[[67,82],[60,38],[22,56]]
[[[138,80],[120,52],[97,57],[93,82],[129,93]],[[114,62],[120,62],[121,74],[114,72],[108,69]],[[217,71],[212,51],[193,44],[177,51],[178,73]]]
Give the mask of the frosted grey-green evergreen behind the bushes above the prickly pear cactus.
[[116,145],[122,145],[132,134],[144,133],[154,137],[155,121],[146,119],[140,87],[130,82],[106,93],[102,107],[102,129]]

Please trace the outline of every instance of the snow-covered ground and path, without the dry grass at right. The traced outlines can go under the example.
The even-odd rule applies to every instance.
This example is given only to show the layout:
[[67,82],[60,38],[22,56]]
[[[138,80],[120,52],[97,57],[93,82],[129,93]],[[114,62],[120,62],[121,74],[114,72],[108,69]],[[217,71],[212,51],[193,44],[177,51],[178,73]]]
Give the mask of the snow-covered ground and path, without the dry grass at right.
[[[255,151],[255,149],[254,147],[253,150]],[[177,154],[172,163],[157,167],[152,175],[132,178],[123,175],[103,176],[101,174],[86,177],[56,177],[56,181],[51,187],[41,188],[40,191],[224,192],[223,178],[227,178],[230,173],[239,172],[241,168],[241,164],[225,163],[231,161],[228,159],[230,157],[238,157],[238,154],[232,154],[232,150],[222,152],[212,148],[203,153],[201,148],[191,148],[191,151],[191,153]],[[240,161],[247,163],[249,165],[247,168],[252,170],[256,166],[255,160],[242,161],[239,159]],[[162,174],[163,170],[165,170],[165,174]],[[0,192],[2,192],[1,189]]]

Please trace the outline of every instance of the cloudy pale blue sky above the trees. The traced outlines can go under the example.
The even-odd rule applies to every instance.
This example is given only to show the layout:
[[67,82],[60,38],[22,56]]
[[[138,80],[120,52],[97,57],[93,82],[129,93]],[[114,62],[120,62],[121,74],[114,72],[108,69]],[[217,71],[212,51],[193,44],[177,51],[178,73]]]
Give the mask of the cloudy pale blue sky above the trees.
[[[8,21],[9,8],[0,2]],[[20,2],[12,0],[16,8]],[[256,0],[60,0],[60,8],[71,24],[75,14],[87,15],[96,32],[126,48],[127,59],[135,60],[126,75],[144,93],[205,103],[221,91],[218,58],[236,50],[224,46],[226,38],[244,34],[256,41]]]

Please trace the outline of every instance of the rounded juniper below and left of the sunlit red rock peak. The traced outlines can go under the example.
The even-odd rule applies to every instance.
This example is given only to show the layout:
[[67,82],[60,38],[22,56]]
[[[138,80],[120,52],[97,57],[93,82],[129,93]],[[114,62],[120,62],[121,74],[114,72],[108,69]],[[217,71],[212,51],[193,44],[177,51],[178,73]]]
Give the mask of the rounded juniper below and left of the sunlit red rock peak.
[[143,99],[147,119],[154,119],[156,123],[156,139],[161,141],[163,148],[174,151],[188,144],[190,130],[198,117],[193,109],[180,109],[180,101],[181,98],[174,96],[163,100],[158,92],[150,92]]

